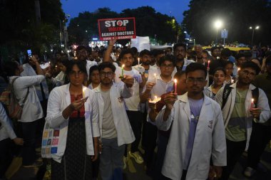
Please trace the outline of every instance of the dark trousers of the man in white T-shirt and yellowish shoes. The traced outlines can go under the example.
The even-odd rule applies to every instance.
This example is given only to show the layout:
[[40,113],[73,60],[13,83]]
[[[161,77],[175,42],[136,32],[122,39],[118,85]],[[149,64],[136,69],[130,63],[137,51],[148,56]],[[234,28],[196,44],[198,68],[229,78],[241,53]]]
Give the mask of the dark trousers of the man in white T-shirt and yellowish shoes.
[[[128,115],[129,122],[131,124],[131,127],[133,129],[133,134],[136,137],[136,140],[131,144],[131,152],[137,152],[138,151],[138,144],[141,139],[141,128],[142,128],[142,112],[140,111],[126,111]],[[126,146],[126,152],[125,155],[127,156],[127,146]]]

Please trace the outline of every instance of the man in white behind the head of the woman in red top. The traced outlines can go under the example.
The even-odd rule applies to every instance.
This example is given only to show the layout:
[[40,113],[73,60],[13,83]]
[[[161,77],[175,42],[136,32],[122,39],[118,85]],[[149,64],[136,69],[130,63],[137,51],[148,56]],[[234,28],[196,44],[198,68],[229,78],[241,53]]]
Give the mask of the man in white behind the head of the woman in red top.
[[88,73],[88,79],[89,79],[89,69],[93,65],[97,65],[96,61],[88,60],[88,51],[85,46],[78,46],[76,48],[76,60],[83,61],[86,63],[86,72]]

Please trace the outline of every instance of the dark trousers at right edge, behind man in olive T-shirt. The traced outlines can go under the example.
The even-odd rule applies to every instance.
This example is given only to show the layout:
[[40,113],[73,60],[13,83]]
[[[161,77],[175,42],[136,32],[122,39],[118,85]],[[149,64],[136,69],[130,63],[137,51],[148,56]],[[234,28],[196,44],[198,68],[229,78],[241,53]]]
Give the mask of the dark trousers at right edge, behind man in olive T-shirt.
[[250,146],[248,147],[247,151],[247,166],[256,169],[257,164],[260,162],[262,152],[265,151],[265,147],[270,139],[271,127],[253,122]]

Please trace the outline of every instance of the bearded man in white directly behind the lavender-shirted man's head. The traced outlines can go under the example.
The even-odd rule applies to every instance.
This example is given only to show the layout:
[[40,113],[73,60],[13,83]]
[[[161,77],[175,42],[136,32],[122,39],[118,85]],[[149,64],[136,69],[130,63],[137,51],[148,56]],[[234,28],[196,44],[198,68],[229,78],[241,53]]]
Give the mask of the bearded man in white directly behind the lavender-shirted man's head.
[[195,63],[194,60],[188,60],[185,58],[186,46],[183,43],[176,43],[173,46],[173,54],[176,58],[176,68],[178,71],[185,70],[186,66],[188,66],[190,63]]

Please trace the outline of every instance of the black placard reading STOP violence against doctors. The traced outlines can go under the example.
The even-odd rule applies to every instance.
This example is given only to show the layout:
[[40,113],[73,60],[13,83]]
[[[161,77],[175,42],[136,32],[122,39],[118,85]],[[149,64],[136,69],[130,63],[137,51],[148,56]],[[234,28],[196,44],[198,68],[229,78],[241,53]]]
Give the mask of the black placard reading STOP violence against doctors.
[[135,18],[103,18],[98,19],[101,41],[136,38]]

